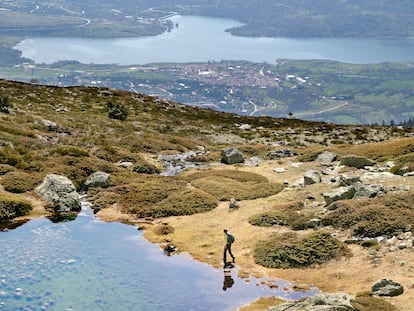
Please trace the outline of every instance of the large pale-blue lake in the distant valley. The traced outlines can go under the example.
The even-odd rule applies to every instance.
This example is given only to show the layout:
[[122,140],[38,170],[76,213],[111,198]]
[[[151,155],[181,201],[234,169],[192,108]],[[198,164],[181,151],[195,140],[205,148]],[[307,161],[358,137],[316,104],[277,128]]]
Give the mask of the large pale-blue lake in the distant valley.
[[32,38],[17,45],[36,63],[77,60],[95,64],[148,64],[276,59],[330,59],[349,63],[414,61],[414,39],[246,38],[226,29],[230,19],[174,16],[178,27],[154,37],[121,39]]

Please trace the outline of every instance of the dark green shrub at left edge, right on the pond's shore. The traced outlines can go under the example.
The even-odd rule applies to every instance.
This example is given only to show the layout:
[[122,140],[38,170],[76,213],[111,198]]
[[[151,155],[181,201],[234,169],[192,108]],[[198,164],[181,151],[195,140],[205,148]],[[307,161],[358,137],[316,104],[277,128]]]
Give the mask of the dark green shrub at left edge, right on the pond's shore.
[[32,204],[16,195],[0,194],[0,222],[26,215],[32,209]]

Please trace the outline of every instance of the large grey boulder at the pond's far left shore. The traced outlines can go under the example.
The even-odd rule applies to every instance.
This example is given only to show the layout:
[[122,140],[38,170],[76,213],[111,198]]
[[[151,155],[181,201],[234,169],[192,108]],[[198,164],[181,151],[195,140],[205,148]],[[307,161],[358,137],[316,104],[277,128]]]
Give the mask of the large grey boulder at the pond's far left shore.
[[35,191],[46,201],[54,204],[57,212],[80,211],[80,197],[72,181],[62,175],[49,174]]

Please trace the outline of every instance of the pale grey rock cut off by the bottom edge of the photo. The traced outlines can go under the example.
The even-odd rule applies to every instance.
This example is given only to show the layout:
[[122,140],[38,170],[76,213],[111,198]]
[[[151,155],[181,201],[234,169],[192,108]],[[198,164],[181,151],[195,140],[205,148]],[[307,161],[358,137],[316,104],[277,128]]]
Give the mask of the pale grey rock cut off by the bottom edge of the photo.
[[318,294],[304,301],[286,302],[267,311],[353,311],[351,297],[345,294]]

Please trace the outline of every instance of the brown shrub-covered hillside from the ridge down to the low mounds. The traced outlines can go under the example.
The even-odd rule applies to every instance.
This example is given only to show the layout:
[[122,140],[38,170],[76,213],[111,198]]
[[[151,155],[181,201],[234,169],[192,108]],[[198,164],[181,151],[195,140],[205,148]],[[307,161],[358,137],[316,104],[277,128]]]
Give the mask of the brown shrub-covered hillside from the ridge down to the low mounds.
[[[113,188],[101,193],[97,204],[105,207],[112,198],[110,202],[119,202],[126,212],[143,217],[191,214],[214,208],[217,200],[228,200],[235,193],[246,199],[281,190],[280,186],[254,176],[242,181],[231,174],[195,176],[190,182],[198,189],[199,204],[181,204],[182,208],[177,210],[173,207],[180,195],[190,197],[195,193],[188,192],[189,180],[170,180],[154,174],[163,170],[162,162],[157,160],[160,154],[204,150],[194,162],[220,162],[220,150],[224,147],[238,147],[246,156],[264,158],[269,151],[281,148],[275,147],[281,144],[303,159],[312,159],[326,148],[372,155],[370,148],[354,146],[371,142],[372,149],[379,153],[375,158],[392,158],[402,164],[412,160],[402,152],[407,147],[392,146],[391,152],[381,153],[375,145],[390,138],[410,136],[407,129],[241,117],[124,91],[58,88],[4,80],[0,81],[0,98],[0,173],[6,191],[30,192],[49,173],[66,175],[82,189],[86,178],[100,170],[113,175]],[[114,107],[122,108],[125,120],[111,115]],[[249,124],[251,129],[242,129],[242,124]],[[122,161],[132,162],[133,169],[119,167],[117,163]],[[137,198],[136,192],[143,191],[148,195]],[[137,206],[140,200],[142,204]]]

